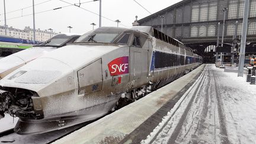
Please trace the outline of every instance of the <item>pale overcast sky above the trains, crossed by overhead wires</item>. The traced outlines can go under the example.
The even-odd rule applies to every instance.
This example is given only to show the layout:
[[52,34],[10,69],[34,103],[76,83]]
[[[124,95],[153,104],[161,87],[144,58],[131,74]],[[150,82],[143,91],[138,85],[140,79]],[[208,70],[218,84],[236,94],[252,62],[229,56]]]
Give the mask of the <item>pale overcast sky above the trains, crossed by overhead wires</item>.
[[[80,8],[72,5],[79,4],[79,1],[81,3],[84,2],[84,4],[80,5]],[[114,21],[120,20],[120,27],[131,27],[136,15],[138,16],[138,20],[151,15],[135,1],[153,14],[181,0],[102,0],[102,16],[110,20],[102,18],[101,26],[116,27],[117,23]],[[40,30],[52,28],[56,33],[68,33],[69,28],[67,27],[70,25],[73,27],[71,33],[83,34],[92,30],[91,23],[97,24],[94,28],[98,27],[99,16],[97,14],[99,14],[100,9],[99,1],[34,0],[34,4],[35,13],[41,12],[35,16],[36,28],[40,28]],[[5,0],[7,25],[19,29],[24,29],[25,26],[33,28],[32,5],[33,0]],[[62,8],[52,10],[59,7]],[[4,25],[4,1],[0,2],[0,25]]]

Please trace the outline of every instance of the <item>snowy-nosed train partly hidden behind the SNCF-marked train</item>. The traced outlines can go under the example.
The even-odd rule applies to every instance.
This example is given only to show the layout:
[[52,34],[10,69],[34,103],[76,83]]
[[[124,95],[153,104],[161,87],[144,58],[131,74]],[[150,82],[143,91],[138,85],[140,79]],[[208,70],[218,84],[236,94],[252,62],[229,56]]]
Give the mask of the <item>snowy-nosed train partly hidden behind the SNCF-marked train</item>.
[[57,34],[43,43],[0,59],[0,79],[47,52],[78,39],[78,34]]

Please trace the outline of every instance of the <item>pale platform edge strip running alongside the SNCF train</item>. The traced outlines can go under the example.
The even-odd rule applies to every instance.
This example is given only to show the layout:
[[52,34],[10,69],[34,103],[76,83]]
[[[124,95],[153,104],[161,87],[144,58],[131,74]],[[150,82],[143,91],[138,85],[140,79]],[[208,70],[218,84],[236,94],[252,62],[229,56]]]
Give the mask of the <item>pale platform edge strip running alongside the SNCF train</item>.
[[[70,135],[57,140],[55,143],[119,143],[137,128],[142,126],[149,117],[156,114],[157,111],[168,101],[172,100],[184,87],[186,87],[204,68],[204,65],[188,73],[187,75],[171,82],[171,84],[140,98],[135,103],[129,104],[102,119],[71,133]],[[184,91],[185,92],[185,91]],[[159,115],[161,116],[161,114]],[[157,116],[156,116],[157,117]],[[162,117],[158,117],[159,120]],[[157,124],[159,121],[157,121]],[[153,126],[153,127],[152,127]],[[146,126],[147,127],[147,126]],[[151,130],[154,125],[151,124]],[[145,136],[146,132],[140,132]],[[127,139],[127,142],[133,142]]]

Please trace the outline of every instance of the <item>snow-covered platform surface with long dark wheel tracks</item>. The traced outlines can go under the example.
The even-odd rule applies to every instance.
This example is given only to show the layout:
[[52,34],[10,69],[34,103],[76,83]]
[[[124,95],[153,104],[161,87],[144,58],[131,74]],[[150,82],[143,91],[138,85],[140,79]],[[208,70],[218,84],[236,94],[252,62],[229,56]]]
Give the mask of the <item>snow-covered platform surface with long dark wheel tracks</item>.
[[206,65],[141,143],[255,143],[256,85],[223,71]]

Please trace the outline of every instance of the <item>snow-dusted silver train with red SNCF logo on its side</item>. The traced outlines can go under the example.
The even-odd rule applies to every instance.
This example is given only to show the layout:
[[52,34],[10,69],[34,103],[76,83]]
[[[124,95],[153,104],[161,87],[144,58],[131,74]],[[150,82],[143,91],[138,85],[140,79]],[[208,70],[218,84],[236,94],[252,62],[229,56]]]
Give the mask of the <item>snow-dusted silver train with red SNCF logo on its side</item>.
[[1,79],[0,115],[20,117],[19,134],[62,129],[104,116],[200,63],[155,28],[97,28]]

